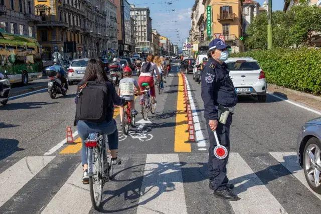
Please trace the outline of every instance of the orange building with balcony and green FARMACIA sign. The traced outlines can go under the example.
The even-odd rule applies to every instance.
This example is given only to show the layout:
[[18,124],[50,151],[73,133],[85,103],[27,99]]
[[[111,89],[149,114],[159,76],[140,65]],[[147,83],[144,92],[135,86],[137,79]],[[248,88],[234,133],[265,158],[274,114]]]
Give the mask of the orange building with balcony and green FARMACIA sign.
[[[208,46],[211,40],[218,37],[231,46],[232,53],[242,52],[244,49],[240,40],[243,36],[242,2],[242,0],[196,0],[191,15],[190,41],[199,43],[200,48]],[[205,12],[203,18],[200,16],[197,19],[196,12],[202,12],[201,5],[204,6]],[[195,34],[197,32],[195,29],[199,29],[199,36]]]

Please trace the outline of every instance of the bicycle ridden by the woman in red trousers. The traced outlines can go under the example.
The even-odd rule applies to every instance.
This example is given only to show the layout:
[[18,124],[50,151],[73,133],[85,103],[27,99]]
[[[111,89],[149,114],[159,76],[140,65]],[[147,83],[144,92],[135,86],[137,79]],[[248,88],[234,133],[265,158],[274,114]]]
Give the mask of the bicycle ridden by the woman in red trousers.
[[151,114],[155,114],[156,103],[151,103],[150,97],[150,88],[148,83],[142,83],[141,86],[144,88],[144,91],[140,97],[140,105],[141,105],[141,114],[144,120],[147,120],[148,112]]

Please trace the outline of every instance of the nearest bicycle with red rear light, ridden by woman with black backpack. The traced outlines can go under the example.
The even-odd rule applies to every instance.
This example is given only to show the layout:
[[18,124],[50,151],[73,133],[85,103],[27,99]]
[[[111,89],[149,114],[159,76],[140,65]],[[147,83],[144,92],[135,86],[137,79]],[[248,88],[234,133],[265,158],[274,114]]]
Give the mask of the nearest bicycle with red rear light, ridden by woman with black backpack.
[[112,177],[113,167],[111,154],[109,152],[107,153],[106,150],[107,142],[107,136],[100,133],[89,134],[85,141],[90,199],[96,210],[98,210],[101,205],[102,188]]

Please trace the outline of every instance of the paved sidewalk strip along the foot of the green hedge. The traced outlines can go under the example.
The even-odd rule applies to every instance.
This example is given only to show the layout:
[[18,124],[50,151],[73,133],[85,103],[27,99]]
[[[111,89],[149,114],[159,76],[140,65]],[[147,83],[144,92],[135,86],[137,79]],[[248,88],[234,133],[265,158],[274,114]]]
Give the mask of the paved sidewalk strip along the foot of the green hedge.
[[288,88],[283,88],[277,85],[268,84],[267,91],[273,93],[284,99],[288,99],[294,102],[302,103],[306,107],[321,111],[321,97],[304,92],[295,91]]

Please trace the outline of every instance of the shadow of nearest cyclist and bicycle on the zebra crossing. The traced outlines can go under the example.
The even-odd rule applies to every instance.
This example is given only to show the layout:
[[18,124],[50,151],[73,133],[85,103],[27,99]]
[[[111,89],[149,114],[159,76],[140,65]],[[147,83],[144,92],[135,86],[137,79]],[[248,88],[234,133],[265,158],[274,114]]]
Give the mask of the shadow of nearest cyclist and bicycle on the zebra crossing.
[[[191,174],[192,171],[207,171],[206,163],[198,164],[200,167],[182,167],[186,162],[163,162],[144,163],[130,166],[116,172],[112,182],[125,182],[126,185],[117,190],[106,190],[104,195],[111,195],[102,201],[100,212],[119,212],[146,204],[164,192],[174,191],[175,183],[197,182],[207,179],[207,174],[200,173],[200,176],[182,177],[183,174]],[[181,168],[182,167],[182,168]],[[134,175],[133,178],[126,177]],[[124,179],[122,179],[124,178]],[[121,184],[120,184],[121,185]],[[119,186],[119,184],[118,184]],[[108,188],[108,183],[105,187]],[[116,199],[124,195],[123,200]],[[113,201],[115,200],[115,201]],[[105,206],[106,204],[106,206]],[[108,205],[109,204],[109,205]],[[106,209],[107,207],[119,207],[118,209]]]

